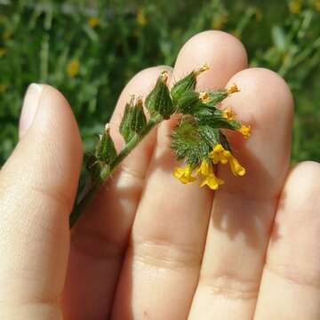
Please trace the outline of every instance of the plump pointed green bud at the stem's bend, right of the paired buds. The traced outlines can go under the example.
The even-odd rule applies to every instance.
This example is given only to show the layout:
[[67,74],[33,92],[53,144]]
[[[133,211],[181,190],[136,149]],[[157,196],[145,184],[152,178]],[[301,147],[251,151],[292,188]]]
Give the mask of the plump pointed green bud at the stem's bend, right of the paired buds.
[[155,88],[146,98],[146,108],[151,116],[161,115],[164,116],[164,119],[169,119],[174,112],[170,92],[166,85],[167,80],[168,72],[163,71],[156,81]]

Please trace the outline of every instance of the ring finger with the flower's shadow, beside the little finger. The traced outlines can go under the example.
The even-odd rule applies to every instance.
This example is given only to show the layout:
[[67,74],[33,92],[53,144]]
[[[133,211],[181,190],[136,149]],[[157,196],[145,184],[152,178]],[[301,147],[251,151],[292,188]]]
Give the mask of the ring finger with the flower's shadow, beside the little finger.
[[[246,168],[234,177],[228,165],[216,193],[204,260],[190,319],[252,318],[277,197],[288,169],[292,95],[274,72],[249,68],[229,80],[240,92],[225,100],[236,118],[252,126],[252,137],[229,135]],[[219,315],[219,316],[217,316]]]

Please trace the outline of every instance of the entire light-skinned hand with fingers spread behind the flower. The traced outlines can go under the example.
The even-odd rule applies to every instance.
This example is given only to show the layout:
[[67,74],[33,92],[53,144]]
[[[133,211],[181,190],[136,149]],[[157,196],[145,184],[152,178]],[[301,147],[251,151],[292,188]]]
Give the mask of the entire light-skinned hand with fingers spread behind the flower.
[[71,233],[83,156],[76,120],[57,90],[29,89],[20,142],[0,172],[1,319],[320,318],[320,165],[289,168],[292,94],[274,72],[247,68],[235,37],[203,32],[173,69],[134,76],[111,120],[116,148],[131,94],[146,96],[164,69],[172,84],[204,62],[198,90],[241,90],[223,105],[252,126],[249,140],[228,135],[245,177],[223,166],[218,192],[180,184],[167,121]]

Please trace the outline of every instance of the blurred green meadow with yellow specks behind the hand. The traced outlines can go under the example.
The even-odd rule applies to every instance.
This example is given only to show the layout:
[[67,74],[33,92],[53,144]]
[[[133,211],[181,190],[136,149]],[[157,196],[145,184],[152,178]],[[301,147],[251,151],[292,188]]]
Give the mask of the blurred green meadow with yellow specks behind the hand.
[[67,96],[88,150],[136,72],[172,65],[211,28],[240,38],[252,66],[284,76],[296,101],[292,162],[320,161],[320,0],[0,0],[0,165],[31,82]]

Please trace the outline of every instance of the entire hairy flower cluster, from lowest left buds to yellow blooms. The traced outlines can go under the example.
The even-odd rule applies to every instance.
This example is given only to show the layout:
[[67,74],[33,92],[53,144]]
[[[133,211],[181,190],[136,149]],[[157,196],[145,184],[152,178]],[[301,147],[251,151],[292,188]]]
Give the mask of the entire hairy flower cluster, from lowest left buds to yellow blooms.
[[[173,114],[180,115],[180,122],[172,132],[171,147],[178,160],[185,167],[176,168],[173,175],[182,183],[196,181],[200,177],[200,187],[218,189],[224,181],[214,174],[215,165],[229,164],[231,172],[243,176],[244,167],[239,164],[228,144],[222,129],[241,132],[245,138],[250,135],[250,127],[236,121],[230,108],[218,108],[220,101],[238,92],[236,84],[228,89],[196,92],[196,79],[208,66],[204,65],[190,72],[169,90],[168,72],[163,71],[154,89],[146,100],[132,96],[124,108],[124,116],[119,132],[124,138],[124,148],[116,152],[108,126],[100,135],[97,147],[89,156],[87,167],[94,184],[108,179],[125,156],[142,140],[148,132]],[[145,108],[143,108],[145,107]],[[145,109],[149,116],[146,116]]]

